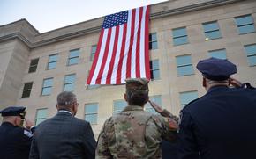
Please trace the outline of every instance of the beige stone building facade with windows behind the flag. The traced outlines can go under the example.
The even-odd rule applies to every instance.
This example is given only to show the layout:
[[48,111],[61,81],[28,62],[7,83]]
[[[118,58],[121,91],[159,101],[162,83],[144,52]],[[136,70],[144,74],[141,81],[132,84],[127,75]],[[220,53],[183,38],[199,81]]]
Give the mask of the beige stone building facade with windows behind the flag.
[[[256,1],[169,0],[150,9],[149,95],[178,115],[205,94],[195,68],[208,57],[237,64],[242,82],[256,85]],[[103,18],[39,33],[26,19],[0,26],[0,108],[25,105],[37,124],[56,114],[56,96],[72,90],[79,119],[97,136],[106,119],[120,112],[124,85],[85,85]],[[206,105],[207,106],[207,105]],[[147,105],[147,111],[154,112]]]

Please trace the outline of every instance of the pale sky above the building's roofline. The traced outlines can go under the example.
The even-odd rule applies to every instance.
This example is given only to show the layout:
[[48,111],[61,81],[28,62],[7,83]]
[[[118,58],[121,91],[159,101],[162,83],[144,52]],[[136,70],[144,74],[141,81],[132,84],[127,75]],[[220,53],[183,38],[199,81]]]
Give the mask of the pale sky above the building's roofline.
[[0,0],[0,25],[21,18],[40,33],[166,0]]

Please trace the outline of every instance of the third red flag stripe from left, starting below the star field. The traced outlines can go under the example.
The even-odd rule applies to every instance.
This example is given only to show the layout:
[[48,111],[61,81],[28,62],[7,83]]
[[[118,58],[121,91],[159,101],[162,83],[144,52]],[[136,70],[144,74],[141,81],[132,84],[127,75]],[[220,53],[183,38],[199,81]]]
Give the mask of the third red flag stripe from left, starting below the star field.
[[116,27],[113,54],[112,54],[111,61],[110,61],[110,64],[109,64],[109,71],[108,71],[108,75],[107,75],[107,82],[106,82],[106,84],[110,84],[111,83],[111,75],[112,75],[112,72],[113,72],[114,63],[115,63],[116,54],[117,54],[118,36],[119,36],[119,25],[117,25],[117,27]]

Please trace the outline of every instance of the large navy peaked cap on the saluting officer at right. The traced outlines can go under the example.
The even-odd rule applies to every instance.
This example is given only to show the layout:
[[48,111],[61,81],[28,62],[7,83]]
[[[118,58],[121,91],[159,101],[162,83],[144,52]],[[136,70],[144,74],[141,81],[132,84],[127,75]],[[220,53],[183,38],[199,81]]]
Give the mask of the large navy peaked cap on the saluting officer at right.
[[237,73],[237,66],[228,60],[209,58],[199,61],[197,69],[210,80],[222,81]]

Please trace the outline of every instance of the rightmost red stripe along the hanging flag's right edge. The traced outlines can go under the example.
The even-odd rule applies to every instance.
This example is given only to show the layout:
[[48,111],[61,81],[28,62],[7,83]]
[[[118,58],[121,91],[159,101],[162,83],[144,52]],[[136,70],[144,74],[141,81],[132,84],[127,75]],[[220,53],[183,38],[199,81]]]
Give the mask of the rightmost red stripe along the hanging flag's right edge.
[[149,67],[149,49],[148,49],[148,21],[149,21],[149,7],[147,7],[146,11],[146,19],[145,19],[145,69],[146,69],[146,78],[150,79],[150,67]]

